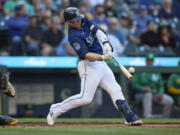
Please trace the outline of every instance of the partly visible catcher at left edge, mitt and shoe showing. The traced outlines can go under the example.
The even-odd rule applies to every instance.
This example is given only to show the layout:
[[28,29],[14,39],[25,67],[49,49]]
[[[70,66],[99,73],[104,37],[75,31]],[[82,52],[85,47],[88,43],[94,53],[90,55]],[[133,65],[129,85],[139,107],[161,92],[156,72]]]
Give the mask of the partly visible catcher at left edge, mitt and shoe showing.
[[[6,94],[9,97],[15,97],[15,89],[9,82],[9,74],[1,74],[0,77],[0,92]],[[0,115],[0,125],[16,125],[17,120],[9,116]]]

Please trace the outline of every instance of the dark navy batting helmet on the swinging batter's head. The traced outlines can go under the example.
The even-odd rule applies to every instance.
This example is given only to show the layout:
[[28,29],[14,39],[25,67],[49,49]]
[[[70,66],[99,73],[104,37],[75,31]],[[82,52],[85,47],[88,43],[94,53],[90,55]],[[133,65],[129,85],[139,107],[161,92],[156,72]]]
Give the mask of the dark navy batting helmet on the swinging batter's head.
[[80,14],[79,9],[75,7],[69,7],[64,10],[64,20],[75,22],[84,18],[84,15]]

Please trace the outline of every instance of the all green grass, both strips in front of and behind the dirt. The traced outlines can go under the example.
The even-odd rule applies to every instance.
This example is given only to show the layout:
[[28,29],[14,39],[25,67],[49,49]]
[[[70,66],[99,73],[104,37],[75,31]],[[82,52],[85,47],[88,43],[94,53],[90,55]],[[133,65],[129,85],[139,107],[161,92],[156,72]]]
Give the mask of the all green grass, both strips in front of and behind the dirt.
[[[19,123],[42,124],[46,119],[22,118]],[[144,123],[178,123],[180,119],[143,119]],[[124,123],[124,119],[58,119],[56,123]],[[46,127],[46,128],[0,128],[0,135],[180,135],[179,128],[139,127]]]

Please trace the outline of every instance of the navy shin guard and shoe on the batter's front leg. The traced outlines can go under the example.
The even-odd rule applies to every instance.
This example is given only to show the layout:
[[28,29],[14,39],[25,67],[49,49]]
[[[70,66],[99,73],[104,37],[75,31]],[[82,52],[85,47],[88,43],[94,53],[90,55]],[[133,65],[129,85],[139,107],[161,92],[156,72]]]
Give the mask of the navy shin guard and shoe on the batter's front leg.
[[123,113],[126,123],[131,125],[142,125],[142,121],[132,112],[126,100],[117,100],[116,104],[119,110]]

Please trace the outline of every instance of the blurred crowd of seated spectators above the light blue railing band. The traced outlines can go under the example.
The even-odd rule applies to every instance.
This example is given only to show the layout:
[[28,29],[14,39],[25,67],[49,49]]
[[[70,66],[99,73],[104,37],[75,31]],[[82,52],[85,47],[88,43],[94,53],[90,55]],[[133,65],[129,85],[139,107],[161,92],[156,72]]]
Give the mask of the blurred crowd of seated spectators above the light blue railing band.
[[1,0],[1,56],[76,56],[63,10],[99,24],[115,56],[180,56],[180,0]]

